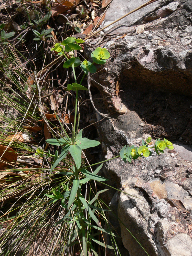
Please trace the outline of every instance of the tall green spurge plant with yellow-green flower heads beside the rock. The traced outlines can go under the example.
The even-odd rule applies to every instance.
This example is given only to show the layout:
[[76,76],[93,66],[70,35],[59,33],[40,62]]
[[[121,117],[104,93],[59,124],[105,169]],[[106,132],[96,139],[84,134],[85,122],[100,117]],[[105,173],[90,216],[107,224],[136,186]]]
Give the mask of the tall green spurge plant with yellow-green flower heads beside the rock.
[[[118,249],[115,249],[115,240],[114,237],[117,236],[114,234],[111,229],[103,228],[100,223],[100,218],[104,218],[103,213],[107,211],[103,209],[101,205],[98,203],[98,196],[100,193],[105,192],[108,189],[104,189],[95,193],[93,198],[86,194],[84,189],[85,186],[83,184],[87,184],[90,181],[98,181],[105,182],[108,179],[98,176],[97,173],[102,168],[104,162],[109,161],[111,159],[121,157],[123,161],[126,163],[127,161],[131,163],[132,159],[137,159],[138,157],[148,157],[151,155],[150,148],[154,148],[155,152],[159,155],[159,152],[164,153],[163,150],[165,147],[169,149],[173,149],[173,145],[171,142],[164,138],[164,141],[157,139],[155,141],[154,146],[148,146],[151,144],[151,137],[148,137],[146,142],[142,140],[142,146],[136,147],[132,146],[124,146],[120,151],[120,155],[115,156],[111,159],[102,161],[100,163],[92,164],[91,166],[100,164],[97,169],[93,172],[88,171],[91,167],[86,166],[81,158],[82,150],[95,147],[100,144],[100,142],[95,140],[89,140],[86,137],[82,137],[82,130],[79,129],[79,120],[80,114],[78,114],[78,122],[76,124],[77,118],[77,109],[78,109],[78,92],[79,90],[88,90],[86,87],[82,86],[81,83],[85,75],[88,73],[95,73],[97,71],[95,64],[105,64],[106,59],[109,59],[110,54],[108,50],[105,48],[98,47],[91,53],[91,58],[93,62],[89,62],[84,60],[81,62],[79,57],[74,56],[74,50],[81,50],[81,46],[84,41],[82,39],[76,39],[74,37],[68,37],[63,42],[55,44],[55,47],[51,50],[57,52],[58,55],[64,55],[66,61],[63,63],[64,68],[72,67],[74,74],[74,83],[68,84],[67,89],[76,91],[76,102],[75,102],[75,115],[74,115],[74,124],[72,126],[72,136],[70,137],[66,130],[63,128],[62,130],[65,136],[61,135],[61,138],[54,138],[46,140],[47,143],[51,145],[61,146],[61,154],[58,155],[58,151],[56,151],[55,155],[51,155],[50,151],[46,154],[46,158],[49,156],[54,157],[54,163],[51,166],[51,171],[65,158],[70,152],[72,165],[69,161],[65,161],[65,165],[68,167],[67,172],[60,172],[63,175],[66,175],[68,178],[70,177],[67,183],[61,183],[58,187],[58,191],[52,189],[53,194],[47,194],[46,196],[52,199],[52,202],[55,203],[57,200],[61,200],[61,205],[68,212],[64,218],[59,220],[55,225],[59,225],[60,223],[67,222],[70,226],[70,229],[73,230],[71,236],[68,241],[66,241],[65,247],[62,248],[61,251],[66,250],[68,247],[79,244],[79,250],[81,255],[95,255],[98,256],[97,247],[102,246],[104,248],[114,249],[115,254],[118,254]],[[68,54],[66,54],[68,53]],[[67,58],[69,56],[69,58]],[[76,73],[74,67],[80,65],[80,68],[84,71],[81,81],[78,83],[76,79]],[[59,120],[59,119],[58,119]],[[37,150],[37,154],[43,156],[45,155],[40,149]],[[90,183],[91,184],[91,183]],[[90,192],[88,192],[90,193]],[[94,230],[94,231],[93,231]],[[114,247],[106,245],[104,242],[96,239],[101,234],[100,237],[103,237],[102,233],[110,234],[112,237]]]

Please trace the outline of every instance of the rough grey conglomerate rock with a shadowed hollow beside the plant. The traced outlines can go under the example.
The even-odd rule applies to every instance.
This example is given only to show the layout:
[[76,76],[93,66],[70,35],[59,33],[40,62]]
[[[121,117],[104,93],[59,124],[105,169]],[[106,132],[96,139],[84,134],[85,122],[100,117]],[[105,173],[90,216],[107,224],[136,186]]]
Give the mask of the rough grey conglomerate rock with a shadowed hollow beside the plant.
[[[144,3],[133,2],[126,1],[125,13]],[[97,129],[106,158],[125,144],[141,145],[143,133],[175,141],[175,150],[160,156],[153,152],[131,164],[118,158],[105,164],[103,173],[127,193],[109,198],[113,209],[118,205],[121,237],[130,256],[147,254],[129,231],[150,256],[191,256],[192,1],[163,0],[147,8],[105,31],[103,41],[89,42],[88,50],[99,42],[111,54],[105,69],[99,67],[99,75],[91,77],[105,103],[94,101],[95,106],[103,113],[108,109],[113,118],[98,123]],[[108,13],[106,23],[111,21]]]

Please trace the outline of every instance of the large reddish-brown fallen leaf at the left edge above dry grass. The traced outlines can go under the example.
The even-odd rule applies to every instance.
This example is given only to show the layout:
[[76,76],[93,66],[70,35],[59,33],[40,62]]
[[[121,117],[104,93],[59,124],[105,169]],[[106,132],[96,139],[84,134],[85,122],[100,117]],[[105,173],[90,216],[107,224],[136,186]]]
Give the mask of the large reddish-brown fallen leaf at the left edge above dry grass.
[[0,169],[3,169],[8,163],[17,161],[17,152],[10,147],[0,145]]

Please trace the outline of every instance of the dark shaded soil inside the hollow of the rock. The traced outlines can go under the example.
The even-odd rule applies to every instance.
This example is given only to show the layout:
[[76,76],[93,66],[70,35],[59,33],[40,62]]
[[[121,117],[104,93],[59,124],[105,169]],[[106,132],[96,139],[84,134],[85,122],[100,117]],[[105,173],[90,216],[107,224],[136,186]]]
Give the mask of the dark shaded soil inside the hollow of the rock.
[[123,86],[119,95],[126,107],[143,120],[144,133],[152,134],[154,138],[168,137],[171,141],[192,144],[191,97],[134,84],[129,86],[131,93],[125,93],[127,86]]

